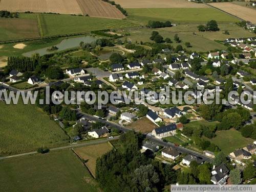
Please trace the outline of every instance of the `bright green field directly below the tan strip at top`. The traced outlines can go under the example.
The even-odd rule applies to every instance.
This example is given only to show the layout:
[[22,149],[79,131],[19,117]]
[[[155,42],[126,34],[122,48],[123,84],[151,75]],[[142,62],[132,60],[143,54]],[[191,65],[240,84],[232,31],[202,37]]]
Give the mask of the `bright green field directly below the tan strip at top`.
[[237,22],[238,19],[214,8],[150,8],[126,9],[130,20],[146,24],[148,20],[170,20],[175,23],[204,23],[216,20],[218,23]]

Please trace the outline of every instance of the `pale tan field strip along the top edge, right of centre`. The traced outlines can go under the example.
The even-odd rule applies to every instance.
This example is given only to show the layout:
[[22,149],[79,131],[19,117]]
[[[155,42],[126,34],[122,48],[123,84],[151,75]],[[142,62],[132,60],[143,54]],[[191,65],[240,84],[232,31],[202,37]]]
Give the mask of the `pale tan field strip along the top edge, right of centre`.
[[115,0],[123,8],[203,8],[204,4],[188,2],[186,0]]

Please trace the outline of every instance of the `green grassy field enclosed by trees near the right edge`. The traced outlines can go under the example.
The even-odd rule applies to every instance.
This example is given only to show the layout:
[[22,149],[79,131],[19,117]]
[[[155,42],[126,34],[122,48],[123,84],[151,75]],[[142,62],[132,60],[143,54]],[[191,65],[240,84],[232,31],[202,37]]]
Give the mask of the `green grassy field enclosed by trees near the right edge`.
[[209,139],[212,143],[215,143],[221,151],[229,155],[232,151],[246,147],[247,144],[253,143],[253,139],[245,138],[241,133],[235,129],[216,131],[216,137]]

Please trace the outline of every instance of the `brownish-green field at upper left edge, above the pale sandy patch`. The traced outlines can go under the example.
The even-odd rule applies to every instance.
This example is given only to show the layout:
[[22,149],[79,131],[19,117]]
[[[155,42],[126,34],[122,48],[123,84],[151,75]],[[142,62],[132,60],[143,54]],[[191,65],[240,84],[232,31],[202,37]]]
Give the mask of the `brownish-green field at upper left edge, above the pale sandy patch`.
[[33,37],[39,37],[36,14],[20,14],[19,18],[0,18],[0,41]]

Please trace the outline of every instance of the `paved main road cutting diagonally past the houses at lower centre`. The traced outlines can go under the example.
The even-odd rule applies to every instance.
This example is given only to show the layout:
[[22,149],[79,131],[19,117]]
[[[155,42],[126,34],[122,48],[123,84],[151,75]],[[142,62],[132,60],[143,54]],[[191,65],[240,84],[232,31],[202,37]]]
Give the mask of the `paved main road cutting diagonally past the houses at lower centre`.
[[[110,127],[114,127],[114,128],[117,128],[123,132],[127,132],[131,129],[129,128],[126,128],[126,127],[123,127],[123,126],[120,126],[118,124],[115,124],[113,122],[109,122],[109,121],[104,121],[103,119],[99,119],[95,116],[92,116],[92,115],[88,115],[86,113],[82,113],[82,112],[78,112],[78,114],[80,114],[81,116],[84,116],[88,119],[90,119],[91,121],[97,121],[97,122],[100,122],[100,123],[105,123],[106,125],[110,126]],[[175,146],[174,143],[170,143],[170,142],[164,142],[160,139],[157,139],[153,136],[150,136],[150,135],[146,135],[146,138],[161,145],[161,146],[164,146],[164,147],[172,147],[174,149],[177,149],[178,151],[182,152],[182,153],[187,153],[187,154],[190,154],[190,155],[194,155],[194,156],[197,156],[197,157],[200,157],[202,158],[203,160],[207,161],[207,162],[211,162],[213,159],[210,158],[210,157],[207,157],[201,153],[198,153],[196,151],[193,151],[193,150],[190,150],[190,149],[187,149],[187,148],[183,148],[181,146]]]

